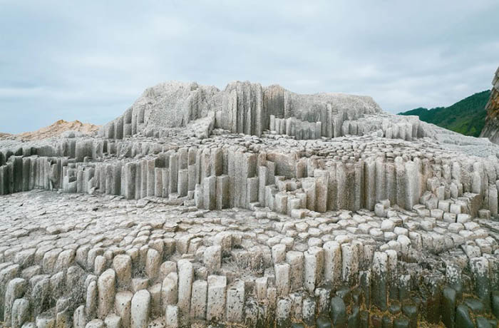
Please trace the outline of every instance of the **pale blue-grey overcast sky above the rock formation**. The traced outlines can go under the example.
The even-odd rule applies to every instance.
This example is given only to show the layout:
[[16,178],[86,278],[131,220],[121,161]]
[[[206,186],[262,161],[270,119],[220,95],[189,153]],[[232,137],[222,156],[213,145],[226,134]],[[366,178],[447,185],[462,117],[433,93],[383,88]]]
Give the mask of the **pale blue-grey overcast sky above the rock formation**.
[[398,113],[490,88],[497,0],[0,0],[0,131],[103,124],[168,80],[369,95]]

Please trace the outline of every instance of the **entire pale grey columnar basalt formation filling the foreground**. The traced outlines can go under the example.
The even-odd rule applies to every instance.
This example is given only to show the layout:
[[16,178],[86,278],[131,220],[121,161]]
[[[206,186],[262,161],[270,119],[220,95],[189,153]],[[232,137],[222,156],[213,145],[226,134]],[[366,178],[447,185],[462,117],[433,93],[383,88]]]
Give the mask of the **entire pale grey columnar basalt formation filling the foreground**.
[[160,84],[0,143],[0,322],[497,327],[498,154],[369,97]]

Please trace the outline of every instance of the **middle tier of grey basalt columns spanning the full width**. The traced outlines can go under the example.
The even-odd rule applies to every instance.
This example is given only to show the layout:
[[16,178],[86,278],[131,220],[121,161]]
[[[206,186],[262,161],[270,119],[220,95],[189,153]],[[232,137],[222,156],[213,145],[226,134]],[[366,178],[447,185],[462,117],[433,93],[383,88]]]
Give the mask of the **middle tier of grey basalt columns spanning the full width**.
[[[328,153],[321,153],[321,146]],[[497,158],[450,158],[418,148],[391,151],[390,143],[376,143],[376,138],[355,147],[359,145],[317,142],[318,150],[307,154],[248,151],[216,138],[172,149],[154,141],[68,139],[57,147],[0,152],[0,194],[43,188],[98,190],[128,199],[175,195],[210,210],[267,206],[299,216],[304,210],[374,210],[384,199],[411,210],[426,204],[427,193],[463,202],[473,215],[480,208],[496,215]],[[106,156],[121,160],[108,162]]]

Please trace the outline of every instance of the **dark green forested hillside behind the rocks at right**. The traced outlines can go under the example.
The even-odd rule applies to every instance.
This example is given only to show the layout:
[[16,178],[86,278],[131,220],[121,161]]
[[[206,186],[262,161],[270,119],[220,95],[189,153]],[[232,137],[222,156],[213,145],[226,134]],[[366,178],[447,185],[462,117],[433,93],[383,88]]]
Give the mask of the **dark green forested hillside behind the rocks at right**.
[[421,121],[433,123],[463,135],[478,137],[485,124],[485,105],[490,97],[490,90],[475,93],[452,106],[436,108],[416,108],[398,115],[419,116]]

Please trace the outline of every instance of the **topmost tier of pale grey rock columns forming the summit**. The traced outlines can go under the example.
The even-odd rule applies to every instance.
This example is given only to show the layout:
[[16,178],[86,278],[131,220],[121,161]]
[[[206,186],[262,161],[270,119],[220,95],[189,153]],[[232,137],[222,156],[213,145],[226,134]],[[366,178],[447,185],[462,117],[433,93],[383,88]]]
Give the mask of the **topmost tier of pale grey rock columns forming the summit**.
[[[185,128],[192,121],[209,117],[211,128],[260,136],[269,129],[270,116],[274,116],[321,122],[320,135],[331,138],[341,135],[343,121],[376,113],[381,113],[381,108],[366,96],[299,95],[280,86],[264,88],[259,83],[239,81],[230,83],[224,91],[196,83],[170,82],[146,90],[123,116],[108,123],[101,135],[116,139],[136,133],[160,136],[168,128]],[[211,132],[193,130],[205,138]]]

